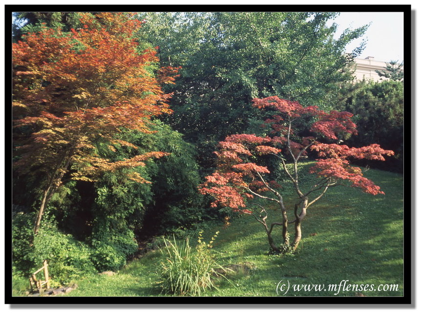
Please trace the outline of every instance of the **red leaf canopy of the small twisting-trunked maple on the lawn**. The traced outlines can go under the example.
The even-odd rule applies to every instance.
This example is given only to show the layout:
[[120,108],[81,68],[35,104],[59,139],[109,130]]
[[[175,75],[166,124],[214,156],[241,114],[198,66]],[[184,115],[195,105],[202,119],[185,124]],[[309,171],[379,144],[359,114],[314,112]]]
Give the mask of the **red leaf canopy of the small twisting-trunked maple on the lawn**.
[[[356,125],[351,120],[351,113],[325,113],[316,106],[303,107],[298,102],[278,97],[254,99],[253,106],[261,109],[269,107],[278,112],[265,121],[272,128],[270,133],[277,136],[270,138],[236,134],[219,143],[220,150],[215,152],[218,156],[217,170],[212,176],[206,177],[206,181],[200,186],[202,194],[210,194],[215,198],[212,206],[221,205],[240,211],[245,208],[246,199],[260,196],[262,192],[272,190],[271,188],[280,188],[275,181],[264,179],[264,175],[270,173],[269,169],[253,163],[251,159],[255,154],[280,155],[281,148],[295,165],[299,158],[307,156],[307,150],[318,151],[318,156],[322,159],[316,160],[310,172],[326,178],[327,182],[318,182],[315,188],[320,186],[323,190],[322,183],[333,186],[337,181],[345,180],[349,181],[352,187],[360,188],[366,193],[384,194],[378,186],[363,176],[360,168],[352,167],[348,158],[384,160],[383,155],[394,154],[391,150],[384,150],[377,144],[355,148],[316,141],[314,133],[330,140],[336,140],[345,133],[356,134]],[[299,138],[294,134],[292,122],[301,116],[314,116],[317,121],[310,126],[310,136]],[[296,177],[297,174],[294,174],[291,179],[294,181]],[[301,199],[305,198],[299,189],[297,193]],[[245,209],[242,211],[251,212]]]

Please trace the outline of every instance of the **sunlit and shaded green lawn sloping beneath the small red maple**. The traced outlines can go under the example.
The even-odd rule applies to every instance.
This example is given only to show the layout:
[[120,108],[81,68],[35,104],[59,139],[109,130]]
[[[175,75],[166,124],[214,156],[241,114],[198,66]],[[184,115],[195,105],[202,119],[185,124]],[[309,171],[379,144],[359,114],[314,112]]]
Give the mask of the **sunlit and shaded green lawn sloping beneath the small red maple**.
[[[309,168],[305,163],[303,168]],[[206,240],[214,232],[214,243],[222,263],[251,262],[251,274],[223,280],[218,290],[204,296],[276,296],[276,285],[284,280],[291,285],[285,296],[366,296],[403,295],[403,178],[402,175],[369,170],[385,195],[370,195],[350,187],[335,187],[313,204],[303,221],[303,239],[295,255],[269,255],[266,233],[249,215],[222,224],[209,225]],[[305,181],[311,181],[308,175]],[[289,190],[287,190],[289,191]],[[286,204],[293,205],[294,195]],[[279,220],[280,211],[268,207],[267,222]],[[289,214],[292,218],[292,214]],[[281,243],[278,230],[275,242]],[[293,236],[292,227],[289,233]],[[195,242],[195,240],[194,240]],[[77,280],[78,289],[67,296],[157,296],[160,287],[155,273],[162,259],[159,251],[129,263],[113,276],[93,275]],[[292,284],[398,284],[398,291],[294,292]],[[19,283],[19,282],[18,282]],[[112,285],[112,286],[111,286]],[[15,292],[16,293],[16,292]]]

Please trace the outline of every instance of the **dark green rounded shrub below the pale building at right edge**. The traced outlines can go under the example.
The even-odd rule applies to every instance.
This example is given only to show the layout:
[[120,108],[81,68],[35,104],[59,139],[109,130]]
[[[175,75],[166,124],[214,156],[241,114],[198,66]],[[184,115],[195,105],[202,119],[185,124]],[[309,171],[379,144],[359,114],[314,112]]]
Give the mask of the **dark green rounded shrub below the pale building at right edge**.
[[343,86],[339,110],[354,114],[358,134],[346,141],[361,147],[379,144],[393,150],[394,157],[386,162],[369,162],[369,166],[402,172],[404,135],[404,85],[399,81],[362,81]]

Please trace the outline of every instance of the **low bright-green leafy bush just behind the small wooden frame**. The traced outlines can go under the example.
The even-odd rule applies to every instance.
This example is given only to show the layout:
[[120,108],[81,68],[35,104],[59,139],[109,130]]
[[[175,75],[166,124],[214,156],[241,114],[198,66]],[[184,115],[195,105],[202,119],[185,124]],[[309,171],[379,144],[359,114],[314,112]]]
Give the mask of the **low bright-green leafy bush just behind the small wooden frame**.
[[34,236],[33,266],[39,268],[47,259],[49,275],[61,284],[96,273],[89,247],[72,235],[60,232],[57,224],[46,217]]

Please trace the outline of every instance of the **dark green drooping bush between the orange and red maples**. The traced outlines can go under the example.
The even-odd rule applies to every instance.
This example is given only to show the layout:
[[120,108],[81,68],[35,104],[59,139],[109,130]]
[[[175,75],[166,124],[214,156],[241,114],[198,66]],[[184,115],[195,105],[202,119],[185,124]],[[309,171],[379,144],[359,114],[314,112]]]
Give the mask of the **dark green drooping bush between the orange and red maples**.
[[148,164],[153,201],[144,217],[144,232],[162,234],[172,228],[200,222],[205,216],[203,197],[197,187],[200,174],[194,146],[166,124],[155,121],[156,133],[143,136],[139,146],[170,155]]

